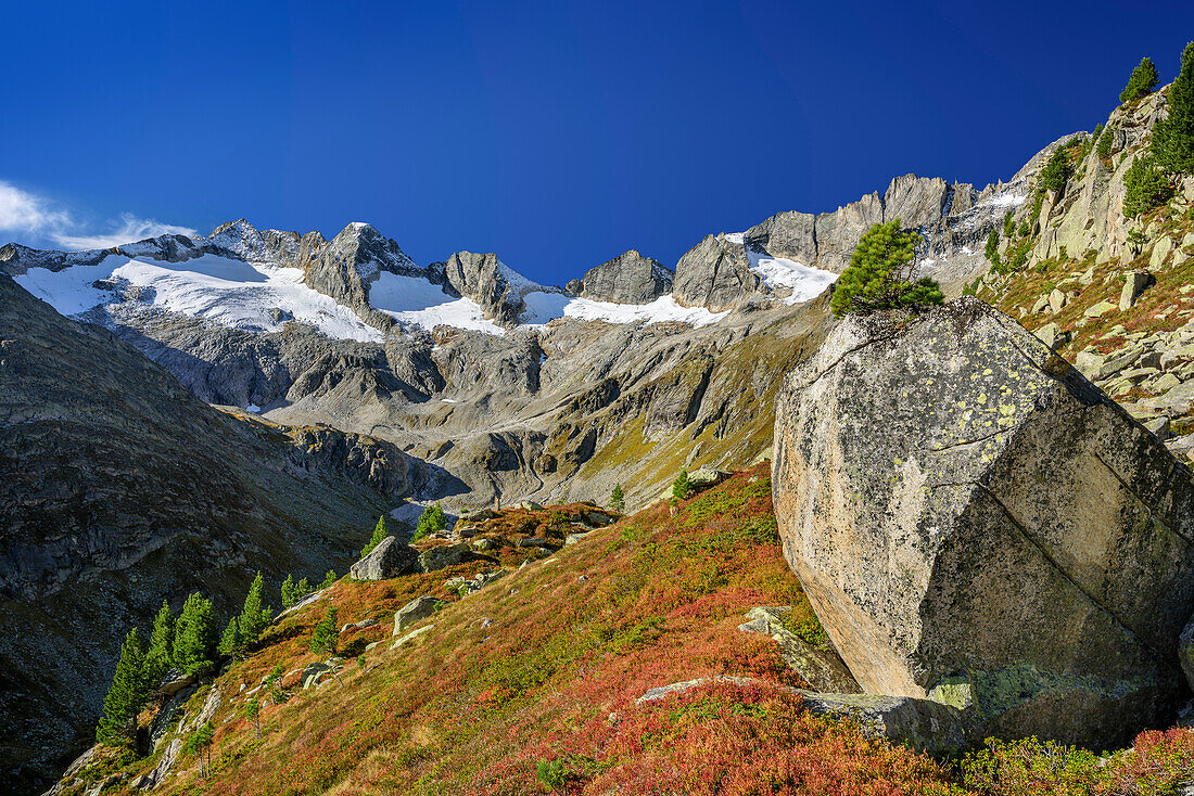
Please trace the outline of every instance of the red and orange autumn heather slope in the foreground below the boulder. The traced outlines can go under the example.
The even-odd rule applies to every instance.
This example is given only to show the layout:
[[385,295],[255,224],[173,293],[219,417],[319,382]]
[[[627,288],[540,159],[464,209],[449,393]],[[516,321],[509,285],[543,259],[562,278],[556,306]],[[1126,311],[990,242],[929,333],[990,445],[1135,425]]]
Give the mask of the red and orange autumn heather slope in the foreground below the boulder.
[[[517,567],[528,555],[513,547],[519,535],[562,527],[561,513],[585,508],[507,510],[479,530]],[[1194,761],[1194,735],[1171,730],[1141,735],[1143,753],[1104,761],[1032,741],[947,766],[806,712],[799,695],[774,687],[805,685],[776,644],[738,630],[757,605],[792,605],[798,627],[816,625],[780,551],[765,465],[675,517],[656,506],[593,531],[476,594],[444,587],[482,568],[341,580],[284,617],[217,679],[211,776],[184,759],[155,792],[1161,794]],[[435,627],[390,650],[394,611],[424,594],[445,605],[412,627]],[[343,634],[339,677],[302,690],[298,671],[325,658],[308,641],[330,606],[341,623],[378,624]],[[364,652],[373,641],[381,643]],[[289,698],[261,709],[258,739],[247,691],[279,664]],[[708,675],[757,683],[712,681],[635,705],[648,689]],[[195,695],[190,715],[205,697]]]

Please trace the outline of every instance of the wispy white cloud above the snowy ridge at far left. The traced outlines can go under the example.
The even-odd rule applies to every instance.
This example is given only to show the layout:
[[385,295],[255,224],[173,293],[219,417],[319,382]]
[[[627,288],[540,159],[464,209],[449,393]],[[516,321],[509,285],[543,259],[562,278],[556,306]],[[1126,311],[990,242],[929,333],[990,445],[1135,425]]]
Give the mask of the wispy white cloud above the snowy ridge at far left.
[[190,227],[140,218],[130,212],[107,222],[107,232],[87,229],[63,208],[0,180],[0,233],[25,237],[27,245],[66,249],[109,248],[156,235],[196,235]]

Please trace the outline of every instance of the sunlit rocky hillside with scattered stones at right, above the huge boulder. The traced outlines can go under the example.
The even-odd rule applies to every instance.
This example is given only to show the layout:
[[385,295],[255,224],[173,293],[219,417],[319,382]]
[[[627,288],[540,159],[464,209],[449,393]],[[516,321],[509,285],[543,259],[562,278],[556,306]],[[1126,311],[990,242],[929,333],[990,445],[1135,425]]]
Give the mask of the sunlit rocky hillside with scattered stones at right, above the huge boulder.
[[1009,217],[1001,264],[970,286],[1033,329],[1150,428],[1194,431],[1194,178],[1164,206],[1125,217],[1124,178],[1165,113],[1165,91],[1059,142],[1064,186]]

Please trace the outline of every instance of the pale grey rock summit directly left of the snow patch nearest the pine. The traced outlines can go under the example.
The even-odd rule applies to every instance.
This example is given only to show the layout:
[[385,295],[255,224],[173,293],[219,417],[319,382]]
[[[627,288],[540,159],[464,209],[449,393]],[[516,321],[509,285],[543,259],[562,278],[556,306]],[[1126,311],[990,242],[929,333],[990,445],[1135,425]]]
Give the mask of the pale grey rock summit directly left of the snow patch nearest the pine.
[[757,294],[759,285],[740,242],[726,235],[706,235],[679,258],[672,296],[687,307],[707,307],[720,313]]

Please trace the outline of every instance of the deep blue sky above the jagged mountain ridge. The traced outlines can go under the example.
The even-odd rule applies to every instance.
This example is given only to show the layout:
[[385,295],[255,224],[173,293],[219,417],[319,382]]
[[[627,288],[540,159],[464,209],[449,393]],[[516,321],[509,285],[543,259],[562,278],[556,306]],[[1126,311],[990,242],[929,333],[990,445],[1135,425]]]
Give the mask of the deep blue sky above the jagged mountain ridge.
[[[1188,1],[75,0],[2,19],[0,181],[73,234],[122,214],[204,234],[369,221],[419,263],[496,251],[552,283],[630,247],[673,265],[896,174],[1007,178],[1104,119],[1141,55],[1171,80],[1194,38]],[[47,234],[16,226],[0,237]]]

